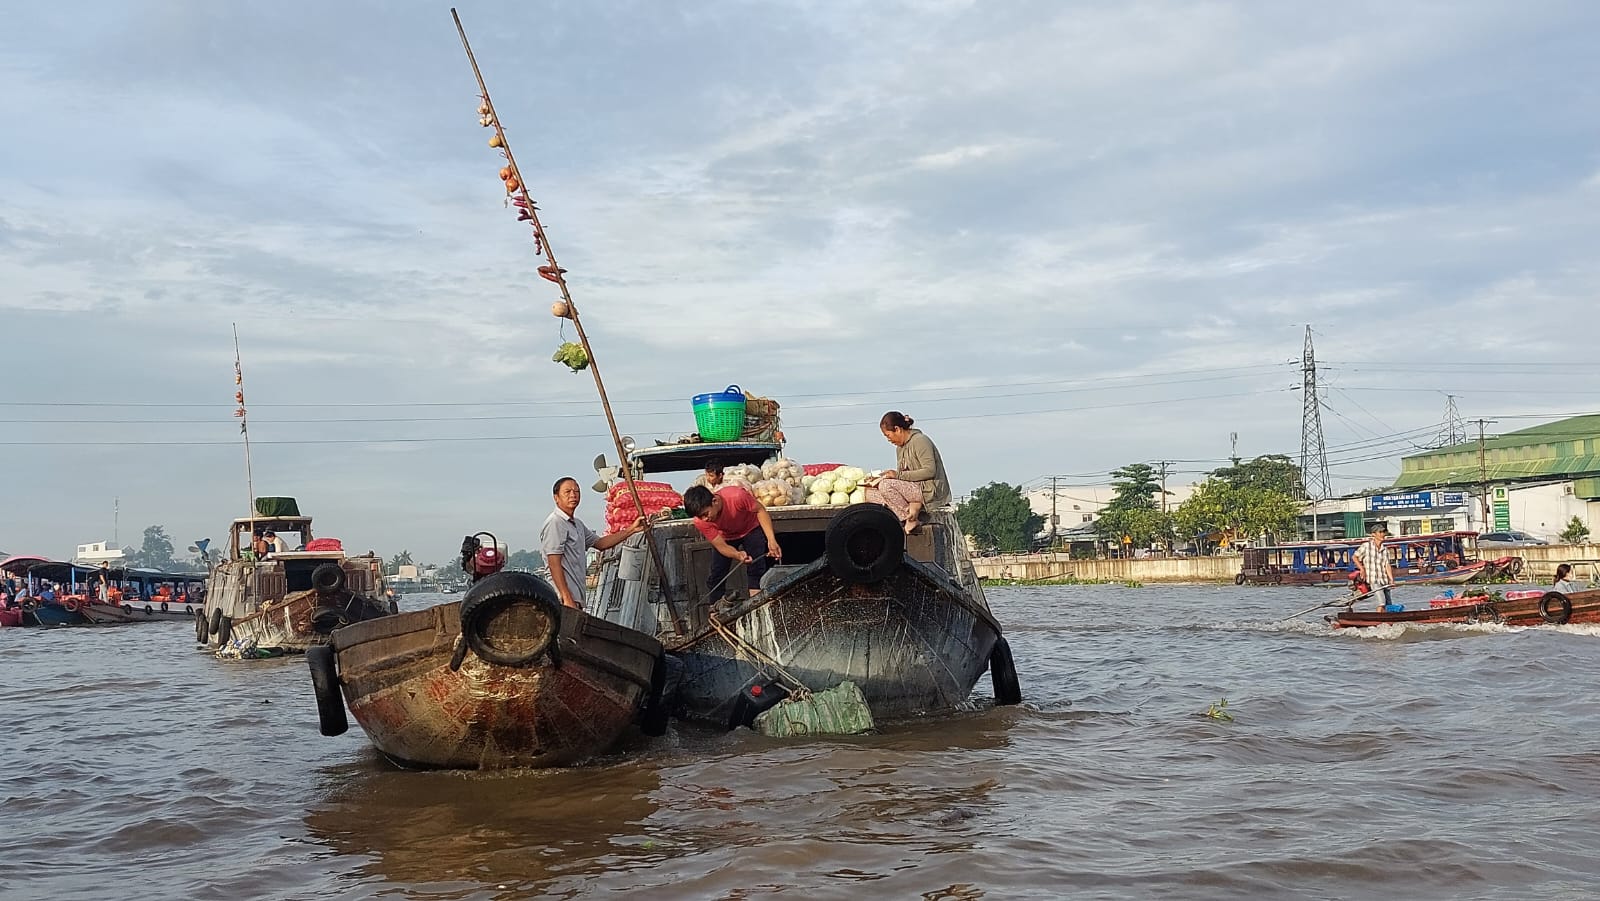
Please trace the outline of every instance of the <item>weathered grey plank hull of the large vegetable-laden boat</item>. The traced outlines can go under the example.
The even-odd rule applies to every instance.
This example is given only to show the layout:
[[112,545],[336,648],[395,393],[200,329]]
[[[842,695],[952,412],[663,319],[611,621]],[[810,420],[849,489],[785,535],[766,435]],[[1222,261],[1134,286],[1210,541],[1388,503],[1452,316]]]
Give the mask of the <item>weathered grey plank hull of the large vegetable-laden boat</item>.
[[[806,688],[854,682],[878,722],[966,703],[1000,627],[941,570],[906,557],[880,584],[851,584],[826,560],[736,610],[728,629]],[[672,648],[683,663],[678,715],[728,725],[741,691],[776,675],[747,648],[702,631]]]

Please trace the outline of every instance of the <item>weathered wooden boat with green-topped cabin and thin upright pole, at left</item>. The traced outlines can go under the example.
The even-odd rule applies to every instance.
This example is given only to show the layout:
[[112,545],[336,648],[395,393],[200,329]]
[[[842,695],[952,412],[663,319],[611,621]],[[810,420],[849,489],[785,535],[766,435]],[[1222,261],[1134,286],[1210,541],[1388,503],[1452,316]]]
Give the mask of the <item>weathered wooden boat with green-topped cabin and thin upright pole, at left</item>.
[[[294,551],[258,559],[254,538],[274,531]],[[333,538],[314,538],[310,517],[293,498],[258,498],[256,515],[229,525],[229,557],[205,584],[195,639],[221,656],[302,653],[325,645],[339,626],[397,611],[384,595],[382,560],[346,557]]]

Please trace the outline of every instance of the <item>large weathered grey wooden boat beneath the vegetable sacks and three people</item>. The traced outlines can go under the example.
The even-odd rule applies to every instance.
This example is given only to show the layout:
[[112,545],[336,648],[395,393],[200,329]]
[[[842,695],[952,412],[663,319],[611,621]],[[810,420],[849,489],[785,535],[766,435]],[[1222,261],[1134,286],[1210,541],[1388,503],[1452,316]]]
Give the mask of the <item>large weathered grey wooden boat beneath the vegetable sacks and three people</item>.
[[[707,463],[762,463],[781,450],[770,442],[667,445],[637,450],[630,463],[640,474],[699,472]],[[643,535],[602,557],[590,608],[658,632],[683,666],[680,717],[749,725],[758,712],[754,687],[776,701],[774,687],[782,696],[854,682],[874,720],[904,720],[960,707],[984,671],[997,703],[1021,701],[1010,645],[954,512],[933,511],[909,538],[878,504],[768,514],[784,565],[768,573],[760,594],[715,618],[706,583],[717,551],[693,522],[653,527],[666,573],[653,571]],[[742,568],[726,591],[747,595]]]

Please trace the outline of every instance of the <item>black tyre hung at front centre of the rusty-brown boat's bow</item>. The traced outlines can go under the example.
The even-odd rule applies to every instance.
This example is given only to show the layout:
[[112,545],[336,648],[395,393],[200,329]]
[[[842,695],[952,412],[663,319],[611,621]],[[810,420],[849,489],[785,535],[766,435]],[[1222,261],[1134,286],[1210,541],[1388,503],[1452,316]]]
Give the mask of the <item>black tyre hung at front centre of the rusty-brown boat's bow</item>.
[[533,573],[501,571],[478,579],[461,599],[461,635],[478,658],[523,667],[547,650],[555,656],[563,613],[550,583]]

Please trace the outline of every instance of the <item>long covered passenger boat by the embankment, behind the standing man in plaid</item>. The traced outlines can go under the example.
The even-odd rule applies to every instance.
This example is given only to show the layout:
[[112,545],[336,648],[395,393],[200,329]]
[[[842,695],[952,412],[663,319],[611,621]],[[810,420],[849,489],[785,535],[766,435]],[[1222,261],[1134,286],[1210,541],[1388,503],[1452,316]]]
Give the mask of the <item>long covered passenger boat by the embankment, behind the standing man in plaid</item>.
[[[1438,531],[1389,536],[1384,549],[1394,560],[1395,583],[1466,584],[1512,578],[1522,571],[1522,557],[1482,560],[1475,531]],[[1358,541],[1296,541],[1270,547],[1246,547],[1234,576],[1237,584],[1325,586],[1339,584],[1355,573]]]

